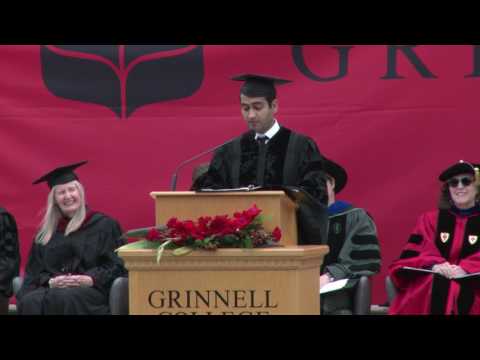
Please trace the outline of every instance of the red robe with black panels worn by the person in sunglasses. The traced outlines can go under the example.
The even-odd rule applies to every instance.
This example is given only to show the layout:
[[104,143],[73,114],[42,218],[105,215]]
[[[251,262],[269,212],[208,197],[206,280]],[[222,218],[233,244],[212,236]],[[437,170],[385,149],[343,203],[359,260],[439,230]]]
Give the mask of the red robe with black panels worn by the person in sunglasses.
[[480,280],[449,280],[438,274],[406,272],[404,266],[431,269],[448,261],[467,273],[480,272],[480,213],[450,210],[423,214],[400,259],[390,265],[397,296],[390,314],[480,314]]

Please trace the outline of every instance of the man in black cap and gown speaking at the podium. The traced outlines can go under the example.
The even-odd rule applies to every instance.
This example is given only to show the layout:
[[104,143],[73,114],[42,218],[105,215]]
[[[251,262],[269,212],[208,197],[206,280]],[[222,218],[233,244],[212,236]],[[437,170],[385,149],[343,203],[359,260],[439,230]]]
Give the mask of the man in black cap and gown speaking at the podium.
[[326,185],[321,166],[323,156],[315,142],[281,126],[275,119],[278,99],[275,85],[288,80],[261,75],[240,75],[242,116],[249,130],[215,153],[208,172],[193,185],[229,189],[250,185],[295,186],[307,192],[311,201],[298,211],[299,243],[324,244],[327,238]]

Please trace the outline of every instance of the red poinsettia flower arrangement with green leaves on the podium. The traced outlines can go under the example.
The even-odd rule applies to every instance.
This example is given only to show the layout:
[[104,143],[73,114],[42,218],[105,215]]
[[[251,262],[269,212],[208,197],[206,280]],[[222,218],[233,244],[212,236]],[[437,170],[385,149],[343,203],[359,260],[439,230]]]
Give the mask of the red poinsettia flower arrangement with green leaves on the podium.
[[[158,249],[157,262],[164,250],[185,255],[196,249],[243,248],[276,246],[282,238],[276,227],[268,232],[263,226],[262,210],[254,204],[233,217],[202,216],[196,221],[171,218],[166,225],[130,230],[124,234],[129,244],[123,249]],[[117,251],[118,251],[117,250]]]

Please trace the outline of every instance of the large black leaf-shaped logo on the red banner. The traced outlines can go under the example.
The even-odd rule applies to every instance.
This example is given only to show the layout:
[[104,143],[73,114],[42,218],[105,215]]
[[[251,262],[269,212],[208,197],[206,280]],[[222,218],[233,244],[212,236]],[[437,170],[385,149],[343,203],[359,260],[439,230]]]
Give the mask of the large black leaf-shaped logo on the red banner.
[[41,60],[52,94],[106,106],[120,118],[192,96],[204,77],[198,45],[43,45]]

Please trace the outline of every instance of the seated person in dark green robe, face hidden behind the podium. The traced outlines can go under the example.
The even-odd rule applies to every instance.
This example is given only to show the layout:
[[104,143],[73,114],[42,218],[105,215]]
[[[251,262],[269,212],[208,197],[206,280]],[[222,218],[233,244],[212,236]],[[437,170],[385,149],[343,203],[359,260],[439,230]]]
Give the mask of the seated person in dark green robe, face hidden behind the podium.
[[320,288],[326,284],[349,279],[337,291],[321,295],[322,314],[350,315],[353,310],[352,289],[361,276],[371,276],[380,271],[380,247],[377,229],[372,218],[361,208],[336,200],[347,184],[347,172],[332,160],[325,160],[328,192],[328,246],[324,259]]

